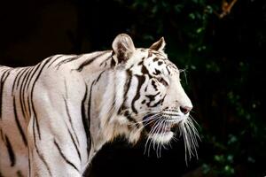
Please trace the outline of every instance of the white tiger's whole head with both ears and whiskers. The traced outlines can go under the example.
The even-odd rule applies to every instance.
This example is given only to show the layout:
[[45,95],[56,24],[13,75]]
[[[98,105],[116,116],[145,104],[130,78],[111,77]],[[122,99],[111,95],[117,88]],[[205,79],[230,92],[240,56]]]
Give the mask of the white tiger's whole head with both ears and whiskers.
[[126,135],[129,142],[136,142],[145,133],[147,149],[151,144],[158,149],[168,144],[177,127],[191,156],[198,136],[190,117],[192,102],[180,83],[180,71],[164,52],[165,45],[163,38],[148,49],[135,48],[129,35],[114,39],[117,116],[113,121],[122,131],[118,134]]

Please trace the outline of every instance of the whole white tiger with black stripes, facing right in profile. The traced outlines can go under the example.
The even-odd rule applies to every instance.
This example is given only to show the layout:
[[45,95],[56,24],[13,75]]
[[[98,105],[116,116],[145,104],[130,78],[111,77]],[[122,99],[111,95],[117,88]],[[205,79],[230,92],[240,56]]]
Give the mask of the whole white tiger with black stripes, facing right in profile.
[[164,39],[135,48],[118,35],[113,50],[56,55],[35,66],[0,67],[0,176],[82,176],[117,135],[147,135],[160,150],[184,135],[189,157],[198,132],[179,70]]

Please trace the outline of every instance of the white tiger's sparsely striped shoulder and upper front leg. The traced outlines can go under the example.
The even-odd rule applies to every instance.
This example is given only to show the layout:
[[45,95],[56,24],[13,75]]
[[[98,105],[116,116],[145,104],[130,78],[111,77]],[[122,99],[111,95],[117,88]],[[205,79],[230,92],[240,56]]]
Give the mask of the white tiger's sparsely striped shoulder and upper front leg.
[[[88,92],[82,77],[43,73],[27,126],[29,176],[81,177],[90,158]],[[41,93],[38,90],[43,90]]]

